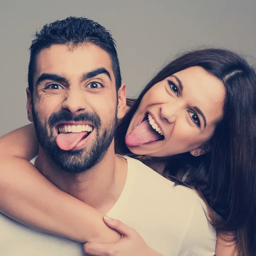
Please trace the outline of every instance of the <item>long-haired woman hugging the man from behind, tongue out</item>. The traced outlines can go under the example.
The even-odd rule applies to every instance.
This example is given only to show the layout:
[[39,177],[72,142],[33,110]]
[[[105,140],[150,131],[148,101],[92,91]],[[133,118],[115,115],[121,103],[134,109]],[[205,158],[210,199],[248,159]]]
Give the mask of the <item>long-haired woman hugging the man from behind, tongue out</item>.
[[[117,153],[137,157],[204,196],[219,241],[236,242],[224,249],[218,244],[217,256],[231,255],[234,248],[238,255],[256,255],[255,85],[254,70],[235,53],[223,49],[192,51],[169,63],[148,83],[116,131]],[[5,152],[7,147],[12,153]],[[99,212],[58,190],[24,160],[35,156],[37,147],[31,125],[1,138],[2,212],[77,241],[116,241],[117,234],[102,224]],[[12,179],[14,175],[26,179],[18,183]],[[32,186],[49,194],[32,196]],[[25,212],[26,207],[29,212]],[[58,212],[60,207],[64,216]],[[116,221],[105,219],[105,223],[115,227]],[[114,245],[119,248],[118,255],[126,255],[122,253],[135,244],[140,248],[139,255],[143,250],[148,253],[147,246],[134,232],[131,235],[128,227],[121,224],[116,229],[122,237],[131,238],[126,239],[131,246],[125,248],[122,243],[120,247],[120,242]],[[85,250],[104,255],[100,250],[107,249],[102,246],[93,249],[89,244]],[[90,250],[98,250],[98,254]]]

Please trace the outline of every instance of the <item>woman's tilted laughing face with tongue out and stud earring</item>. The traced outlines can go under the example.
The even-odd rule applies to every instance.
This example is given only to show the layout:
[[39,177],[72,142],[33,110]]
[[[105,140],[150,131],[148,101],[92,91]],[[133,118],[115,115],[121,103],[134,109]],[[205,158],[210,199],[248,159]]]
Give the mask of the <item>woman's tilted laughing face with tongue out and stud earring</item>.
[[154,157],[204,154],[222,118],[224,97],[224,84],[202,67],[177,72],[145,94],[125,143],[134,154]]

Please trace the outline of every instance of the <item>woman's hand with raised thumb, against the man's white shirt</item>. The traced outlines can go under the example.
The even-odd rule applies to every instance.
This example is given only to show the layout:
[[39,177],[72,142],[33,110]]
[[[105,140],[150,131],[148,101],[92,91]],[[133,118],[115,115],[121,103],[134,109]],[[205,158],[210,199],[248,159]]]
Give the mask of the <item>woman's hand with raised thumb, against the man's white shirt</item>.
[[90,256],[162,256],[151,249],[143,238],[132,227],[128,227],[121,221],[104,217],[108,227],[118,231],[121,239],[116,243],[86,243],[84,252]]

